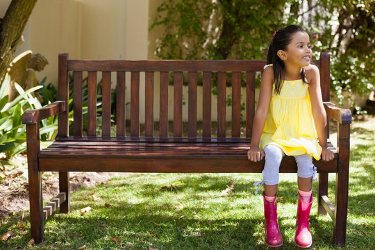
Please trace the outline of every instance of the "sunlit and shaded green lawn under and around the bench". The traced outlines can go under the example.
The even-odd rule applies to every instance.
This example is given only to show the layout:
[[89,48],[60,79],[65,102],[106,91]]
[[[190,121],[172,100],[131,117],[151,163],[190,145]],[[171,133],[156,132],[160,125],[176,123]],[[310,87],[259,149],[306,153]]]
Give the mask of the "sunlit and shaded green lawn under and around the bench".
[[[317,216],[313,203],[310,249],[374,249],[375,142],[372,122],[355,122],[351,136],[351,169],[347,245],[332,244],[331,217]],[[20,216],[3,219],[0,235],[15,235],[0,242],[0,249],[269,249],[264,241],[263,201],[253,194],[260,174],[131,174],[113,178],[96,188],[72,193],[69,215],[56,213],[45,223],[45,241],[27,246],[30,224],[16,228]],[[229,181],[235,189],[221,196]],[[330,180],[335,175],[330,174]],[[160,190],[174,185],[176,190]],[[316,197],[317,183],[313,194]],[[334,193],[333,183],[329,186]],[[100,199],[94,201],[92,194]],[[294,246],[297,211],[294,174],[281,174],[278,217],[284,244]],[[112,206],[106,207],[105,203]],[[81,215],[80,209],[92,210]],[[121,242],[112,241],[117,236]]]

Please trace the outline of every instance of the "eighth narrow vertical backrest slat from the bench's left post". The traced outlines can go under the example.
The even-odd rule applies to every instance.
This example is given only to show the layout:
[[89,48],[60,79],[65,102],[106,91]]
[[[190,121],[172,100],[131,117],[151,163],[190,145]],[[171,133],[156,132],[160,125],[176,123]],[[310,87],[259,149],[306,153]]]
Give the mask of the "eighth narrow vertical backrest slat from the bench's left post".
[[173,136],[182,137],[183,72],[174,72]]

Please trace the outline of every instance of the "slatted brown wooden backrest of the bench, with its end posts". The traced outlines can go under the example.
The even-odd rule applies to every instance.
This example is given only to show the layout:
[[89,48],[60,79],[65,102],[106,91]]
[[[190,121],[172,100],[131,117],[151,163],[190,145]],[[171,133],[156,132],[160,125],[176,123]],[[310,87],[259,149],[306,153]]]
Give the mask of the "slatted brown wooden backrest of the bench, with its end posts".
[[[330,56],[321,53],[320,60],[313,63],[320,68],[322,95],[329,101]],[[246,82],[245,137],[251,138],[251,129],[255,113],[256,72],[262,72],[266,60],[71,60],[67,53],[60,53],[58,59],[58,98],[65,101],[69,110],[69,72],[74,78],[73,134],[69,135],[69,111],[58,117],[58,137],[83,136],[83,124],[87,122],[87,136],[97,137],[97,80],[102,77],[101,137],[111,136],[111,76],[116,78],[116,137],[126,137],[126,103],[130,102],[130,138],[140,138],[140,94],[144,94],[144,138],[154,135],[154,81],[160,77],[160,126],[158,138],[168,138],[168,86],[169,75],[174,76],[173,83],[173,135],[183,137],[183,78],[188,75],[188,138],[197,138],[197,107],[202,106],[202,138],[226,138],[226,85],[231,81],[232,118],[231,138],[240,138],[241,128],[241,81]],[[131,88],[126,90],[126,72],[131,74]],[[140,93],[140,72],[144,72],[144,93]],[[158,74],[155,74],[158,72]],[[188,73],[186,73],[188,72]],[[100,74],[98,74],[100,73]],[[88,76],[88,115],[83,120],[83,76]],[[143,73],[142,73],[143,74]],[[203,103],[197,103],[197,83],[201,78],[203,85]],[[217,83],[217,132],[213,133],[212,90]],[[126,100],[126,91],[131,92],[131,99]],[[143,136],[143,135],[142,135]]]

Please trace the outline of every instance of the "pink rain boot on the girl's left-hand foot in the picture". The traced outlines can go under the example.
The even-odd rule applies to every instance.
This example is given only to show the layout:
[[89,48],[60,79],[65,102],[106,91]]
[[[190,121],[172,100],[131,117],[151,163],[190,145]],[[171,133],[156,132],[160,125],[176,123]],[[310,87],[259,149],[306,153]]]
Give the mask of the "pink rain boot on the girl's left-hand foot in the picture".
[[263,192],[263,203],[265,206],[265,242],[269,247],[281,247],[283,238],[278,230],[277,203],[266,201]]

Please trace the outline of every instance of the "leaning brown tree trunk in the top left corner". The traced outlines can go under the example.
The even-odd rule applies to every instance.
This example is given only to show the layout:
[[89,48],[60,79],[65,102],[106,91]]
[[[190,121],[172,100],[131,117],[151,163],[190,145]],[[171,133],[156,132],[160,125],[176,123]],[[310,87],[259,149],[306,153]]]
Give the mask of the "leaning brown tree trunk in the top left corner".
[[6,15],[0,19],[0,83],[22,44],[22,32],[37,0],[12,0]]

